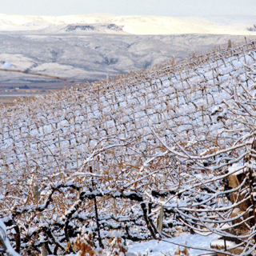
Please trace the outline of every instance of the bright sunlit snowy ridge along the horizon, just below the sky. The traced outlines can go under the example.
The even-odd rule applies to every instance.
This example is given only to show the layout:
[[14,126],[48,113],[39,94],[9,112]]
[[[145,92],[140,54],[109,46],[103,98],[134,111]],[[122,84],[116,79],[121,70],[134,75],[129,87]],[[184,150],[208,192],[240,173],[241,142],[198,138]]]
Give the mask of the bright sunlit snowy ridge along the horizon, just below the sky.
[[[114,14],[88,14],[71,16],[22,16],[0,14],[0,30],[43,30],[49,27],[68,26],[70,24],[108,24],[108,33],[128,34],[246,34],[256,35],[250,31],[256,23],[254,16],[225,16],[206,18],[177,18],[159,16],[122,16]],[[115,25],[115,26],[113,26]],[[88,27],[91,30],[93,26]],[[107,27],[105,27],[107,30]],[[47,30],[48,31],[48,30]],[[103,32],[104,28],[100,30]],[[63,32],[63,30],[62,30]],[[70,30],[66,30],[70,32]],[[81,32],[84,32],[82,30]]]

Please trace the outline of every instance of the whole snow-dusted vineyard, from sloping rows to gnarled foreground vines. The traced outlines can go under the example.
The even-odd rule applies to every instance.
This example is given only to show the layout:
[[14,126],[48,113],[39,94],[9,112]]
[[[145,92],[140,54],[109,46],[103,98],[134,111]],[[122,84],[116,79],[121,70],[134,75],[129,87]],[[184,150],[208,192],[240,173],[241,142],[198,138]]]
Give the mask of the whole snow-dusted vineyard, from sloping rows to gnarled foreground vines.
[[256,42],[0,117],[0,220],[18,254],[124,255],[180,232],[217,234],[208,253],[256,254]]

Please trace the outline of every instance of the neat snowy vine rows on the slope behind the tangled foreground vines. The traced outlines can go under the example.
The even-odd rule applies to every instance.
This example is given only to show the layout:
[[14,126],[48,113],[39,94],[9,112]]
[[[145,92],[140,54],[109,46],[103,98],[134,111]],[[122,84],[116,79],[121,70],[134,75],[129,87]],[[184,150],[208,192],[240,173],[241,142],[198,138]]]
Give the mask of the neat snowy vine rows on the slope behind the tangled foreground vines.
[[[151,79],[138,76],[140,82],[121,78],[118,82],[98,83],[89,88],[77,86],[46,99],[38,98],[29,105],[3,110],[2,163],[15,170],[17,164],[21,165],[18,168],[26,168],[27,160],[33,158],[38,162],[34,162],[35,166],[40,164],[48,169],[49,147],[56,158],[60,153],[65,154],[66,168],[75,170],[77,160],[79,166],[86,157],[82,150],[88,146],[92,148],[95,142],[108,136],[146,138],[151,134],[150,121],[165,132],[170,128],[184,136],[185,142],[201,133],[215,130],[218,134],[223,123],[216,121],[212,111],[220,106],[223,98],[229,99],[234,89],[238,93],[243,90],[238,84],[234,87],[232,79],[245,81],[246,72],[251,73],[250,66],[255,62],[254,53],[246,57],[226,58],[225,55],[223,58],[219,54],[209,64],[194,65],[190,70],[181,66],[175,74],[171,66],[152,74]],[[207,124],[211,125],[209,129]],[[168,138],[168,132],[166,135]],[[140,147],[143,145],[145,149],[146,143],[150,141],[142,139]],[[9,154],[11,150],[13,154]]]

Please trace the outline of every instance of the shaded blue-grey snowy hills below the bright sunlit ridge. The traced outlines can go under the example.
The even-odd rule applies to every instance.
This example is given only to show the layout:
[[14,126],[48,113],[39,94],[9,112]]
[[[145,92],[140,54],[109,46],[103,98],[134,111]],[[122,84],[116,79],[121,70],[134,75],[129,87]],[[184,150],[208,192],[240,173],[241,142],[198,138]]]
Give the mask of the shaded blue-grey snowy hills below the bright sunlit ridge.
[[[226,46],[228,40],[245,42],[244,36],[210,34],[137,36],[87,31],[86,36],[81,36],[76,30],[71,30],[67,36],[32,32],[0,34],[0,40],[4,42],[1,45],[0,65],[9,62],[11,70],[58,75],[71,81],[94,81],[107,75],[146,69],[173,57],[182,59],[188,54]],[[2,83],[42,81],[42,77],[27,74],[0,74]]]

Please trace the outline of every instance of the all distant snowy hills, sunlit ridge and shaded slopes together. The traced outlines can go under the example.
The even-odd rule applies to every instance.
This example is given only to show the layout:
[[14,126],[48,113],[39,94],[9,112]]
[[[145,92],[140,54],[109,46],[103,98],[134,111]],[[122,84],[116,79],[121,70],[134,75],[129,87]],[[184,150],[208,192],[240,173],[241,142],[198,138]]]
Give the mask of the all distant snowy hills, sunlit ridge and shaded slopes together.
[[[0,65],[11,69],[95,81],[146,69],[170,58],[253,40],[255,17],[173,18],[91,14],[18,16],[0,14]],[[45,79],[46,80],[46,79]],[[2,83],[42,78],[1,72]],[[46,80],[46,81],[49,81]]]

